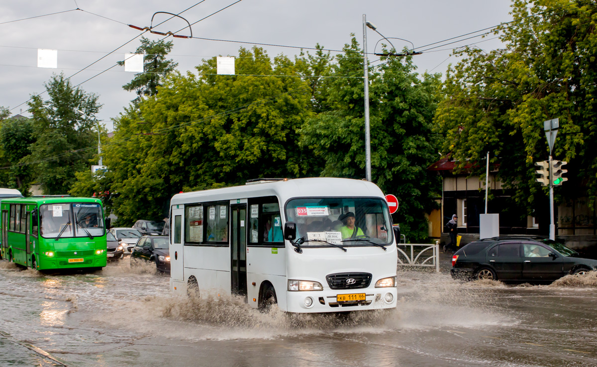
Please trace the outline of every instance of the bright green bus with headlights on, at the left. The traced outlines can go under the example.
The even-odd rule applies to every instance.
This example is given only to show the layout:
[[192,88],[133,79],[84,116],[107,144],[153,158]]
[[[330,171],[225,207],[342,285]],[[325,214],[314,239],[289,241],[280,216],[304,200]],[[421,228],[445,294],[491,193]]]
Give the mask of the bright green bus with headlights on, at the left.
[[106,228],[101,201],[46,196],[4,199],[2,257],[35,270],[106,266]]

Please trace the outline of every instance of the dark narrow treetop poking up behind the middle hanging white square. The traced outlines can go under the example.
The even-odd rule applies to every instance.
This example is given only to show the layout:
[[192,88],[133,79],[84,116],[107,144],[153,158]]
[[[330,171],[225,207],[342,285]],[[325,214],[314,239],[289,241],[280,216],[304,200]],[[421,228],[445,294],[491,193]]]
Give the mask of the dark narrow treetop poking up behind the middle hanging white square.
[[[134,103],[139,103],[141,98],[158,94],[158,87],[162,85],[164,76],[176,69],[178,63],[166,58],[172,47],[172,41],[152,41],[141,37],[141,45],[135,53],[144,54],[143,73],[136,74],[133,80],[122,86],[124,90],[136,91],[137,98],[133,100]],[[118,64],[122,66],[124,61],[118,61]]]

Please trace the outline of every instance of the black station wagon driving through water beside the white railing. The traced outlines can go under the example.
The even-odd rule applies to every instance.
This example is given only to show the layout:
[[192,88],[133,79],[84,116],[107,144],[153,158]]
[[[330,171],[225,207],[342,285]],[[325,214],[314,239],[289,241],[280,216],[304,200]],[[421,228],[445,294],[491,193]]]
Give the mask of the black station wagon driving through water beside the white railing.
[[597,270],[597,260],[559,242],[538,237],[490,238],[470,242],[452,257],[454,279],[553,282],[568,274]]

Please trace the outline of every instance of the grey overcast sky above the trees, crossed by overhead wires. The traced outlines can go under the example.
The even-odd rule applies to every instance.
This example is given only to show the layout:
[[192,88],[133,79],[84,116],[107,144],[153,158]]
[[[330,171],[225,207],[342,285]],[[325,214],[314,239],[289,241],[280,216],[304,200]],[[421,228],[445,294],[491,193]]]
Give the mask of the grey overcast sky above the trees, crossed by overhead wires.
[[[180,15],[194,23],[235,1],[205,0]],[[139,46],[137,38],[119,48],[141,33],[126,24],[149,26],[156,11],[176,14],[197,2],[199,0],[2,0],[0,30],[4,36],[0,41],[0,106],[12,109],[12,115],[21,113],[29,116],[26,112],[28,106],[19,104],[26,102],[31,94],[43,92],[44,83],[53,73],[63,72],[68,77],[107,55],[70,79],[75,85],[84,82],[115,65],[116,61],[124,60],[125,53],[132,53]],[[74,10],[76,8],[82,11]],[[64,11],[66,13],[44,16]],[[359,44],[362,43],[362,16],[366,14],[367,20],[387,38],[408,39],[420,48],[510,21],[512,16],[509,11],[510,1],[506,0],[241,0],[199,21],[192,30],[193,36],[202,38],[297,47],[314,47],[319,43],[325,48],[341,50],[344,44],[350,42],[350,33],[355,33]],[[20,20],[23,18],[30,19]],[[165,20],[164,14],[158,14],[154,24],[161,20]],[[176,32],[184,25],[186,23],[182,20],[173,19],[156,30]],[[188,29],[180,33],[187,35]],[[163,38],[150,33],[144,36]],[[414,63],[421,73],[433,70],[443,74],[449,63],[456,62],[456,58],[450,57],[451,48],[476,44],[484,50],[493,50],[500,47],[499,40],[494,37],[468,39],[429,50],[433,52],[414,56]],[[374,51],[374,45],[380,39],[376,32],[368,30],[368,52]],[[196,72],[193,67],[204,58],[235,56],[239,47],[251,47],[250,44],[201,39],[168,40],[174,41],[170,58],[179,63],[181,72]],[[410,45],[397,39],[392,39],[392,43],[397,48]],[[37,67],[38,48],[58,50],[57,69]],[[270,57],[285,54],[294,58],[299,52],[295,48],[264,48]],[[109,54],[111,51],[115,52]],[[112,130],[110,119],[118,116],[123,107],[136,97],[134,93],[122,90],[122,85],[133,77],[134,73],[115,66],[81,85],[86,92],[99,95],[103,107],[97,118],[109,130]],[[42,96],[47,98],[47,93]]]

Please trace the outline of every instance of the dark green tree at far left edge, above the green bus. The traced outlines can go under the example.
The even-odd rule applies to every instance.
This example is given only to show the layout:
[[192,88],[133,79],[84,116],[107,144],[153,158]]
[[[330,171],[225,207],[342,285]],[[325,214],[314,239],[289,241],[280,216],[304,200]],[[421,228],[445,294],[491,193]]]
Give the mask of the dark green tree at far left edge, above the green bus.
[[19,189],[23,195],[29,193],[33,170],[26,164],[31,145],[35,143],[32,121],[16,116],[2,121],[0,125],[0,150],[8,167],[5,172],[5,186]]

